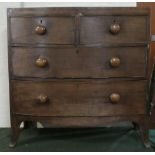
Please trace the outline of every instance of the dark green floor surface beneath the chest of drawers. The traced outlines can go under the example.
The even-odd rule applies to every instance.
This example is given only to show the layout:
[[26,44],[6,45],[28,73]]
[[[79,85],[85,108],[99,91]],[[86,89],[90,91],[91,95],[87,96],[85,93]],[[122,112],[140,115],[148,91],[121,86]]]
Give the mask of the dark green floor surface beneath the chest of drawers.
[[0,151],[35,152],[152,152],[155,131],[150,131],[152,148],[145,148],[133,127],[82,129],[25,129],[15,148],[9,148],[10,129],[0,128]]

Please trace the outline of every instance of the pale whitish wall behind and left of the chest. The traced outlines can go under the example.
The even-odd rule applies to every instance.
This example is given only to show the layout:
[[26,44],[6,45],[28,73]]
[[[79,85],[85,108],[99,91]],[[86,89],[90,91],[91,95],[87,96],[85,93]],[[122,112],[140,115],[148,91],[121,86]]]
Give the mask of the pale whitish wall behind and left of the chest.
[[127,3],[0,3],[0,127],[10,127],[7,54],[7,8],[21,7],[135,7]]

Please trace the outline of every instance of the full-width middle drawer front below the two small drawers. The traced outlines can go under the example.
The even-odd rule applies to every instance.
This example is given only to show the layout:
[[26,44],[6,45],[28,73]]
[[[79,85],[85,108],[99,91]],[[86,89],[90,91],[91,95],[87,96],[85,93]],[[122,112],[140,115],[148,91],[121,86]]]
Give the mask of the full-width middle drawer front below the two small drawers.
[[18,77],[145,77],[146,72],[144,47],[80,48],[79,51],[18,47],[11,52],[13,75]]

